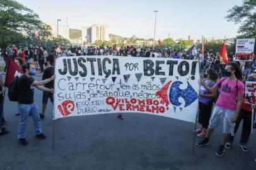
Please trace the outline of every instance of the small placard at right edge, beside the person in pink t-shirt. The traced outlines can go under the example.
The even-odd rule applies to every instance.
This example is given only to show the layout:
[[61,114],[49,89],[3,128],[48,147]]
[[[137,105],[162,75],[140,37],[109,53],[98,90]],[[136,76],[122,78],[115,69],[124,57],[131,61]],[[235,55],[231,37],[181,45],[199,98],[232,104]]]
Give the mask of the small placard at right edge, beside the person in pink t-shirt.
[[245,103],[256,104],[256,82],[245,82]]

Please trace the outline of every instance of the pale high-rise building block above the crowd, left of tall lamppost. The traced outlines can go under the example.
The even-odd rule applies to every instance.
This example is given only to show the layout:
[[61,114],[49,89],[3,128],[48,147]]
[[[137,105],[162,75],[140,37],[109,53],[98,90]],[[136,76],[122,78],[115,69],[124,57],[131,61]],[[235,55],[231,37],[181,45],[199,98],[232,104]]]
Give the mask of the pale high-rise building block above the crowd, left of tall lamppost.
[[108,40],[107,26],[106,25],[92,25],[82,28],[82,40],[89,43],[95,43],[97,40]]

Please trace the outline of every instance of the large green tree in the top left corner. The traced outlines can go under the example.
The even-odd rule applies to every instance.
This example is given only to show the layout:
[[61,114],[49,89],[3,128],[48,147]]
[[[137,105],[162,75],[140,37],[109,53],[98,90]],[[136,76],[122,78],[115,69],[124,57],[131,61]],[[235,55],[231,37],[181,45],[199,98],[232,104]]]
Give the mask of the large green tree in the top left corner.
[[0,0],[1,47],[24,40],[41,25],[42,21],[31,9],[13,0]]

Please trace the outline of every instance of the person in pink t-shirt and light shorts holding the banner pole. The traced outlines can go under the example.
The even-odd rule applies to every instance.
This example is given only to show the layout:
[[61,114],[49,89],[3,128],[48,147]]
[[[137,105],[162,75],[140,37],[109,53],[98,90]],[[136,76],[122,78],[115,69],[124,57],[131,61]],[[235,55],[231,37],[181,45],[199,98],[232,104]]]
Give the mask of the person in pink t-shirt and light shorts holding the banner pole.
[[212,111],[206,137],[204,140],[197,143],[199,147],[209,145],[209,138],[214,128],[222,123],[223,138],[216,152],[216,156],[224,155],[224,145],[228,142],[228,139],[230,139],[230,134],[232,136],[234,135],[235,122],[240,113],[243,94],[245,93],[245,86],[243,82],[240,81],[242,76],[241,70],[235,62],[229,62],[225,67],[224,73],[226,77],[219,79],[217,84],[212,88],[206,86],[206,84],[201,81],[202,86],[207,89],[207,91],[211,91],[211,93],[221,88],[221,93]]

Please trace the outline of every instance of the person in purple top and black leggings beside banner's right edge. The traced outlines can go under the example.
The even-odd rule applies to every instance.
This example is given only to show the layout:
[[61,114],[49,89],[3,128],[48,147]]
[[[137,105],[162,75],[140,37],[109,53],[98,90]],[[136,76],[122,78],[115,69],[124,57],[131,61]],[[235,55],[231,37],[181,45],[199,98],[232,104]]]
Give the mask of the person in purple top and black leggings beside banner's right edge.
[[[216,80],[218,79],[218,74],[214,71],[214,69],[207,70],[207,78],[204,81],[206,86],[212,88],[216,84]],[[212,110],[212,99],[216,97],[216,91],[212,93],[207,91],[203,86],[200,88],[199,95],[199,116],[198,123],[201,124],[201,127],[195,130],[198,137],[205,137],[206,130],[209,125],[209,120],[211,118],[211,110]]]

